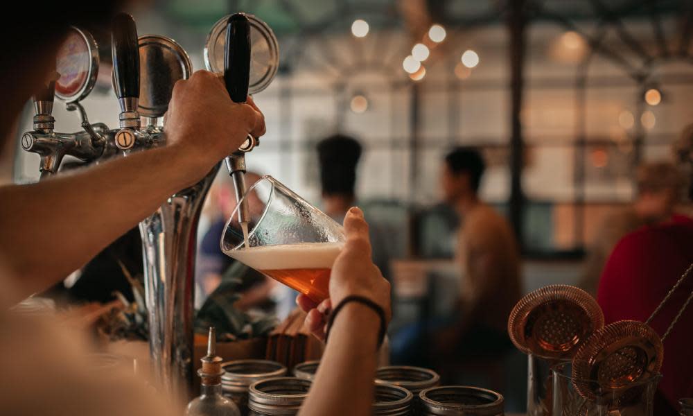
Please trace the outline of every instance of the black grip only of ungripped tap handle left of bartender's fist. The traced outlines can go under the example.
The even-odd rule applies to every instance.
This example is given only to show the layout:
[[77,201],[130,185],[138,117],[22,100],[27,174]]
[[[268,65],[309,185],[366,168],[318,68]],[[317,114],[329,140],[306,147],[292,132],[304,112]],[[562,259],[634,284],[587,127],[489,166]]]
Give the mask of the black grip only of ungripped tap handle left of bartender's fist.
[[113,19],[111,51],[118,98],[139,98],[139,44],[137,26],[127,13]]

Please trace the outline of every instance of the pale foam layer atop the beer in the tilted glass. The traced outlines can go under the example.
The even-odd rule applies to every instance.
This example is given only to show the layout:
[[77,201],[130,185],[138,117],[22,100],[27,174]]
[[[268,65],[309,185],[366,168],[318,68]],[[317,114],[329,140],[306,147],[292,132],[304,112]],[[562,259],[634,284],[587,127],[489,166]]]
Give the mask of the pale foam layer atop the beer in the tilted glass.
[[343,243],[264,245],[229,250],[225,254],[256,270],[332,268]]

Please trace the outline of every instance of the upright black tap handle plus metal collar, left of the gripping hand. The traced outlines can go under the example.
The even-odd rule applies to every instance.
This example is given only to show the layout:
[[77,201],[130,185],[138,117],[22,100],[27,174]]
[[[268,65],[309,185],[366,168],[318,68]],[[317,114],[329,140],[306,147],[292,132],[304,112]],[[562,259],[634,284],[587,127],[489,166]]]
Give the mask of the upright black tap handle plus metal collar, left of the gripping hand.
[[116,146],[125,150],[134,145],[134,130],[139,130],[139,43],[137,26],[127,13],[113,19],[111,51],[116,96],[121,105],[121,130],[116,134]]

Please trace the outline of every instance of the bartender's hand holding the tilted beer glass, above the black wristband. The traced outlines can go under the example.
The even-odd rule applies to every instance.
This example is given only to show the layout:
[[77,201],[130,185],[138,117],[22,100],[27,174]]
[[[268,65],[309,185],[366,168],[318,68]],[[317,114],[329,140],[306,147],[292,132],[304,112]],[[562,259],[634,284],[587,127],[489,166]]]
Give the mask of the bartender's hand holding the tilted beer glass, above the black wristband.
[[308,313],[306,327],[320,340],[324,340],[328,315],[333,305],[338,305],[347,296],[367,297],[383,307],[385,319],[392,317],[390,306],[390,284],[380,269],[371,260],[371,243],[368,224],[363,212],[354,207],[344,218],[347,243],[332,266],[330,275],[330,299],[316,304],[306,295],[297,297],[297,304]]

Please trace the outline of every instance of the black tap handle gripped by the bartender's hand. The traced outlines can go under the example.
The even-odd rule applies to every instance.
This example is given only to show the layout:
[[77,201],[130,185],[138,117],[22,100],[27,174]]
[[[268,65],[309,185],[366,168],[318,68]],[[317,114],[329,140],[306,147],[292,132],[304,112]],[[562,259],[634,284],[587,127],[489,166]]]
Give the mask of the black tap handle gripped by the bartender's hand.
[[245,103],[250,82],[250,21],[245,14],[229,17],[224,47],[224,83],[234,103]]

